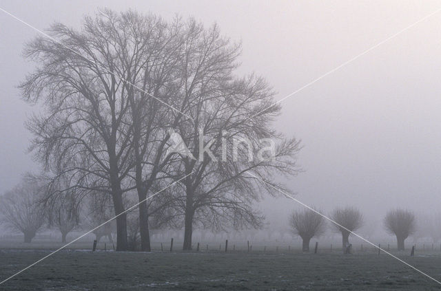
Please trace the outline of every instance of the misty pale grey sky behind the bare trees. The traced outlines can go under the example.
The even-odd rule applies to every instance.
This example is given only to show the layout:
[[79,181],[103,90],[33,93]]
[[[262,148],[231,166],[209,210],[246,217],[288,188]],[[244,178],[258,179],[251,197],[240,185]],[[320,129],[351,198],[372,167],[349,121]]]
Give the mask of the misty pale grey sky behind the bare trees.
[[[194,16],[242,40],[241,74],[269,80],[279,100],[418,19],[440,1],[1,1],[44,30],[79,27],[99,7]],[[0,12],[0,191],[37,169],[23,122],[32,108],[16,88],[32,69],[21,57],[37,32]],[[305,173],[289,181],[306,204],[365,213],[438,211],[441,188],[441,12],[285,100],[276,127],[302,140]],[[269,206],[268,206],[269,205]],[[284,213],[295,202],[267,200]],[[274,216],[274,213],[269,213]]]

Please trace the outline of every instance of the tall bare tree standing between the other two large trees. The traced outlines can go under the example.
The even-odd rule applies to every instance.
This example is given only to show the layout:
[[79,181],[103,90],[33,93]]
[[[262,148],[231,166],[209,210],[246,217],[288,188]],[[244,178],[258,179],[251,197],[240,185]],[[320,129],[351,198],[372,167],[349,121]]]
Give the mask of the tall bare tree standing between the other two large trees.
[[[110,19],[115,18],[110,13]],[[174,177],[170,173],[171,164],[178,156],[169,153],[170,132],[181,120],[188,119],[183,114],[187,99],[181,94],[182,80],[176,76],[177,65],[183,51],[183,26],[185,23],[176,18],[165,23],[158,17],[130,14],[130,21],[123,23],[121,30],[130,28],[136,34],[131,46],[139,47],[136,54],[141,62],[132,61],[132,74],[127,76],[132,84],[141,90],[127,85],[130,96],[130,114],[132,119],[132,147],[134,169],[130,175],[139,198],[139,228],[141,250],[150,251],[149,221],[161,217],[173,202],[165,193],[146,201],[147,194],[153,194],[165,186]],[[160,98],[158,102],[155,96]],[[168,106],[164,106],[166,103]],[[167,197],[164,197],[167,196]],[[152,218],[154,217],[154,218]]]

